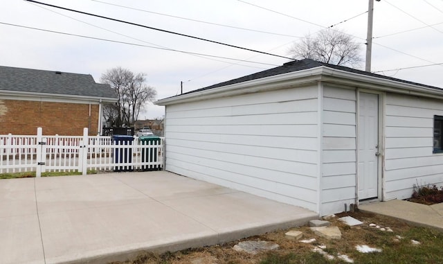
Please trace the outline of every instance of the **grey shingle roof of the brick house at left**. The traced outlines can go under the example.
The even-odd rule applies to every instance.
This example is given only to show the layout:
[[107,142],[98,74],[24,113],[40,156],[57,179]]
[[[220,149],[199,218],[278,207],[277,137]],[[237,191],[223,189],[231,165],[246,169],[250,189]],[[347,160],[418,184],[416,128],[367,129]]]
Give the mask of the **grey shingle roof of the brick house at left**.
[[0,91],[117,98],[109,85],[91,75],[0,66]]

